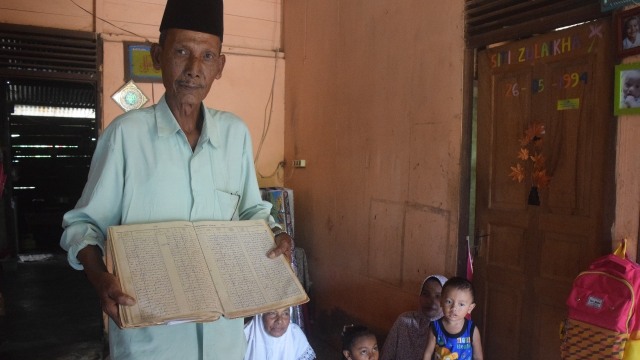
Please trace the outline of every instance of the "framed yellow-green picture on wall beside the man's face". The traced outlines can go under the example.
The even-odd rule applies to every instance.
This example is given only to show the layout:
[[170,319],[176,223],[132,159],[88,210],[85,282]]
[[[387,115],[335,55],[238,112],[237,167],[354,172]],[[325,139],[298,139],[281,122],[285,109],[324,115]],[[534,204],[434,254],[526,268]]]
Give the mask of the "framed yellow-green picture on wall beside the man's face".
[[125,81],[162,82],[162,72],[153,67],[151,44],[124,42]]

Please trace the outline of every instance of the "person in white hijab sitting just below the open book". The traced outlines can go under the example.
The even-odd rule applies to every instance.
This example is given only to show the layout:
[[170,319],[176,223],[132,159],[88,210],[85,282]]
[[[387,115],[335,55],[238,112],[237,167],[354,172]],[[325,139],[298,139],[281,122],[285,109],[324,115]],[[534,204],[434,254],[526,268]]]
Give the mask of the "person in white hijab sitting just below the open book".
[[245,360],[312,360],[316,354],[307,337],[291,324],[291,309],[256,315],[244,328],[247,337]]

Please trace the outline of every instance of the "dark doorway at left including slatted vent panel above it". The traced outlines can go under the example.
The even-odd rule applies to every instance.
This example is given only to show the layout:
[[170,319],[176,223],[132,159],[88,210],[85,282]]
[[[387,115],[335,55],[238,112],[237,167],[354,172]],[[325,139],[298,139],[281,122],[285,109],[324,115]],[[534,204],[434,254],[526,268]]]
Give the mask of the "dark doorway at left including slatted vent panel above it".
[[[95,33],[0,24],[0,259],[60,250],[100,123]],[[78,115],[81,113],[81,115]]]

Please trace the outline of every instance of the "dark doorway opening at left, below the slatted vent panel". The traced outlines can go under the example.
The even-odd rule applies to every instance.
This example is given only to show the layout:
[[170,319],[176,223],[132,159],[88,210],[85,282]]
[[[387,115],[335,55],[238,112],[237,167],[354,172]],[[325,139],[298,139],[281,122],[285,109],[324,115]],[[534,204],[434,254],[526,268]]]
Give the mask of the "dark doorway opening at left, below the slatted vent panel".
[[98,136],[95,85],[2,79],[2,199],[15,253],[60,251],[62,216],[86,182]]

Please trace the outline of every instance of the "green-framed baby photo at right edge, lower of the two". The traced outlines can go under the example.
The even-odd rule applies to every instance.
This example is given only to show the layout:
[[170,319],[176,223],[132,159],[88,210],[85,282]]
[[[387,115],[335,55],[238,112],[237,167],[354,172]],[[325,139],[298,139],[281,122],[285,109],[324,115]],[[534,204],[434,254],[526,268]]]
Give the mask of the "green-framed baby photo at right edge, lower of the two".
[[616,65],[614,83],[613,113],[640,114],[640,63]]

